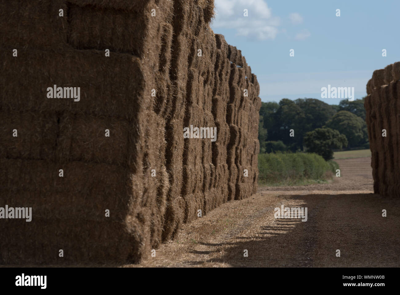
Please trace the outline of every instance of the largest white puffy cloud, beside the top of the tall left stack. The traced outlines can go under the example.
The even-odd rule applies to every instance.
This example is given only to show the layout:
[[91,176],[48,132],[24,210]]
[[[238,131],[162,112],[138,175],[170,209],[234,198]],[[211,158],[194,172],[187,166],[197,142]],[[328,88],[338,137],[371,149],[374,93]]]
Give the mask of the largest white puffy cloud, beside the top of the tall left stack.
[[[243,16],[243,10],[248,16]],[[251,39],[274,39],[278,33],[279,17],[272,16],[264,0],[215,0],[216,16],[213,28],[235,29],[237,36]]]

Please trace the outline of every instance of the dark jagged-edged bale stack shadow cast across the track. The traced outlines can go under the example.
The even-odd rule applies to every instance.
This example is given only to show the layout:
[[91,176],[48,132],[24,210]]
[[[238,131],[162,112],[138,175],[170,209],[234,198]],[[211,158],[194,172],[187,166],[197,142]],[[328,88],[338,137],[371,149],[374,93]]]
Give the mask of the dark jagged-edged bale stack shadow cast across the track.
[[[319,194],[301,198],[308,220],[275,219],[261,231],[241,234],[222,257],[205,262],[232,267],[399,267],[400,200],[376,194]],[[285,204],[285,207],[298,203]],[[387,217],[382,210],[388,211]],[[200,242],[200,244],[202,244]],[[244,250],[248,257],[244,257]],[[340,257],[336,257],[340,250]],[[210,251],[212,252],[212,251]],[[200,253],[198,253],[200,254]]]

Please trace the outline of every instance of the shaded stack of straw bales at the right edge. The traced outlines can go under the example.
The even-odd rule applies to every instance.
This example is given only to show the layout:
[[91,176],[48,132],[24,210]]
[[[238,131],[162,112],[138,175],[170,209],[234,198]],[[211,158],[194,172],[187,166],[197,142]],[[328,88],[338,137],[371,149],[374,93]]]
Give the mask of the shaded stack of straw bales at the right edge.
[[364,106],[374,192],[400,196],[400,62],[374,71],[367,83],[367,94]]

